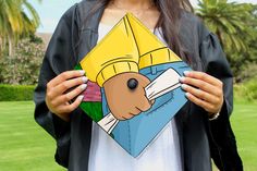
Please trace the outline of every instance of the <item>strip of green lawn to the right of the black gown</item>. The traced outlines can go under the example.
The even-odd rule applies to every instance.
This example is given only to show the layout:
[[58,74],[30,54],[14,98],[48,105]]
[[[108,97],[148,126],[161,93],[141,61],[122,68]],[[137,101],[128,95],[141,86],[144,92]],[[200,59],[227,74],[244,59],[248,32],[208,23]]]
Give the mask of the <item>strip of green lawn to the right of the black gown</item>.
[[257,101],[237,102],[231,117],[245,171],[257,170]]

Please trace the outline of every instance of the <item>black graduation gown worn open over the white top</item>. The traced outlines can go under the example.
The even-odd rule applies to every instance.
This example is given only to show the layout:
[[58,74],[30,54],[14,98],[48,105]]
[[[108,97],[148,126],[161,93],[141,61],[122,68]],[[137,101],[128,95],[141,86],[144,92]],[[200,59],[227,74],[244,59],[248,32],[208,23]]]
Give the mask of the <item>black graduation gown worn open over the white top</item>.
[[[96,45],[103,9],[85,21],[94,4],[95,0],[83,1],[61,17],[46,51],[34,96],[35,120],[56,139],[56,161],[71,171],[87,170],[93,121],[81,109],[71,113],[71,122],[51,113],[45,102],[46,85],[58,74],[73,70]],[[181,20],[180,37],[194,59],[192,66],[220,78],[224,84],[224,105],[217,121],[209,122],[207,113],[192,102],[187,102],[175,117],[183,170],[210,171],[210,155],[220,170],[243,170],[229,122],[233,102],[230,66],[217,37],[196,16],[184,12]]]

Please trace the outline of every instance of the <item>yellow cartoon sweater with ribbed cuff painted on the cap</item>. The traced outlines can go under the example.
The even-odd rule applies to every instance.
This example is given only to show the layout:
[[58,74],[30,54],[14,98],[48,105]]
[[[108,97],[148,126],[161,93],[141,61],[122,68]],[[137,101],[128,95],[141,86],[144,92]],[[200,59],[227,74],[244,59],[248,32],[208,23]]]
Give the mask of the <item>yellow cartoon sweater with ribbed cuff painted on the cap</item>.
[[175,61],[181,59],[139,20],[127,13],[84,57],[81,66],[91,82],[102,86],[117,74]]

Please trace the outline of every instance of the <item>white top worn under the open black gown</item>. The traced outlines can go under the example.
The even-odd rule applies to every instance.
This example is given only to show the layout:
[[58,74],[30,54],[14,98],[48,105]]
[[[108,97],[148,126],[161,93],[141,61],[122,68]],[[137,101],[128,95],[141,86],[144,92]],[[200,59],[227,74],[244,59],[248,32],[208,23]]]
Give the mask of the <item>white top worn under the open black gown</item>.
[[[112,26],[100,23],[98,42]],[[154,33],[166,42],[160,29]],[[88,171],[182,171],[179,135],[171,120],[137,157],[132,157],[93,122]]]

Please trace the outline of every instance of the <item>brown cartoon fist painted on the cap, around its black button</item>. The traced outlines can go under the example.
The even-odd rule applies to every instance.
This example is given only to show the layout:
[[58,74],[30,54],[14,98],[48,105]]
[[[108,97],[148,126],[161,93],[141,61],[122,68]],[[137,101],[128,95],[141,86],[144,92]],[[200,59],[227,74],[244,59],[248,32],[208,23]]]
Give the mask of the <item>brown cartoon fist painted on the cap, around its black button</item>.
[[[135,78],[138,85],[134,89],[130,89],[127,82]],[[138,73],[118,74],[103,84],[108,106],[112,114],[118,120],[127,120],[142,111],[147,111],[151,107],[151,102],[145,95],[145,87],[150,81]]]

